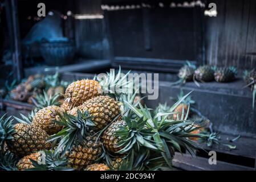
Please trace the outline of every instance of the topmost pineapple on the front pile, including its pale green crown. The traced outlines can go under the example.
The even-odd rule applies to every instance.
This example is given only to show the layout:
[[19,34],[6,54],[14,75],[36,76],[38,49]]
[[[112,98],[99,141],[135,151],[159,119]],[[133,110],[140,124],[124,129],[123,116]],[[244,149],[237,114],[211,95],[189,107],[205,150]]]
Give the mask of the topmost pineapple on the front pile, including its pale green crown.
[[[96,80],[78,80],[68,85],[65,96],[66,101],[70,102],[72,106],[79,106],[83,102],[100,96],[101,94],[112,94],[118,96],[119,94],[113,93],[112,88],[126,89],[128,86],[127,75],[121,76],[121,69],[115,76],[115,72],[108,73],[104,80],[97,77]],[[117,91],[117,90],[115,90]]]

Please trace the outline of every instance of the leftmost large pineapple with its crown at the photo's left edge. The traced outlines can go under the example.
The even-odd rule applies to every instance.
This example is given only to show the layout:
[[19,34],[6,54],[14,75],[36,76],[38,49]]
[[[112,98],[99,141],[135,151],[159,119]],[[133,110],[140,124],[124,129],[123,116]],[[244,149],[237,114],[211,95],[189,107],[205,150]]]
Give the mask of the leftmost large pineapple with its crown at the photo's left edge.
[[29,155],[32,152],[48,149],[51,147],[47,143],[48,134],[46,131],[18,119],[23,123],[13,125],[11,117],[4,119],[5,115],[0,118],[0,144],[6,142],[10,152],[17,156]]

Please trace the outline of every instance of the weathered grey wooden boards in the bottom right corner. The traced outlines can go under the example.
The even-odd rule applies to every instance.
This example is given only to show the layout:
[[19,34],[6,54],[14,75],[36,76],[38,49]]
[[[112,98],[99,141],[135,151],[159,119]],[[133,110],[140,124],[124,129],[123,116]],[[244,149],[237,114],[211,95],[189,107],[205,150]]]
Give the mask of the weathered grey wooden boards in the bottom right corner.
[[[196,170],[196,171],[254,171],[256,170],[256,148],[255,138],[241,137],[235,142],[229,142],[234,136],[221,134],[221,142],[235,145],[234,150],[230,150],[227,146],[217,146],[216,144],[212,147],[206,146],[206,144],[200,144],[205,151],[196,152],[196,156],[190,154],[180,154],[176,152],[173,159],[173,166],[182,170]],[[210,165],[208,160],[209,151],[216,151],[217,164]],[[205,153],[202,156],[202,152]],[[234,160],[233,160],[234,159]],[[246,161],[245,161],[246,160]]]

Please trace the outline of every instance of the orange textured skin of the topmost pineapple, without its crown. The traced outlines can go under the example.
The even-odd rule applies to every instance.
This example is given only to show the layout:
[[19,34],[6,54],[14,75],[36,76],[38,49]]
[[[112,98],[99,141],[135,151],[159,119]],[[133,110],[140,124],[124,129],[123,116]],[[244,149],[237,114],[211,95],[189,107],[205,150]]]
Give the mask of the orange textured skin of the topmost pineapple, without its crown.
[[74,106],[83,104],[84,101],[101,94],[101,86],[95,80],[78,80],[68,85],[65,96],[67,101]]

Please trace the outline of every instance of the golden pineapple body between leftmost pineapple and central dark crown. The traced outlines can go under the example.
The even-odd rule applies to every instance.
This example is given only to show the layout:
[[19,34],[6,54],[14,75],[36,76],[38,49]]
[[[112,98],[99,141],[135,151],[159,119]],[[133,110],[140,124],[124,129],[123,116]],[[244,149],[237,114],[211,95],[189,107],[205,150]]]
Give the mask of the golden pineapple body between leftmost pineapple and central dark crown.
[[63,112],[63,109],[58,106],[44,107],[35,114],[32,125],[43,129],[49,135],[56,134],[62,130],[62,126],[58,125],[54,120],[59,121],[58,114]]

